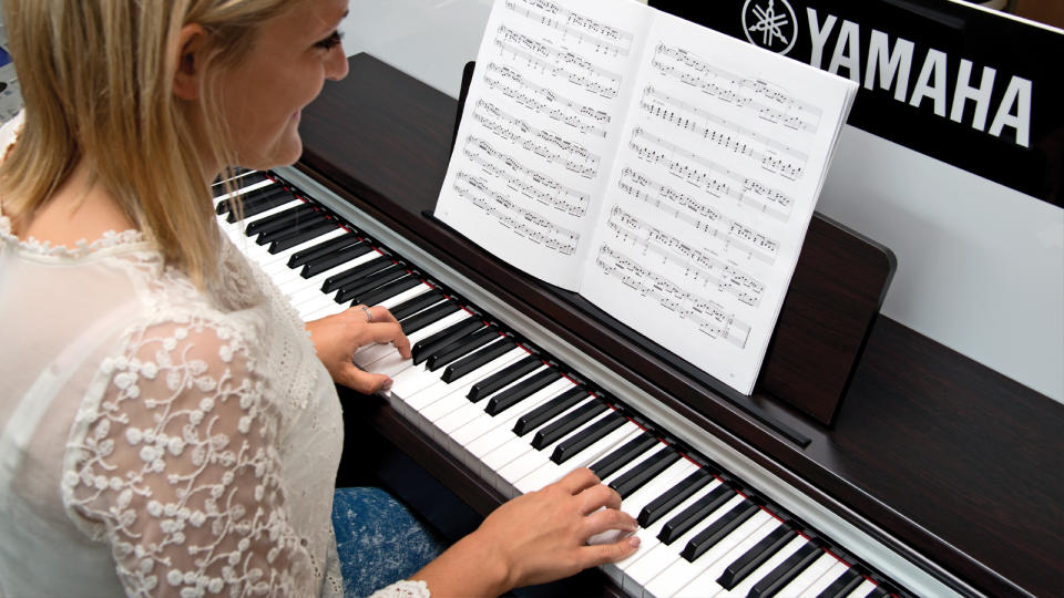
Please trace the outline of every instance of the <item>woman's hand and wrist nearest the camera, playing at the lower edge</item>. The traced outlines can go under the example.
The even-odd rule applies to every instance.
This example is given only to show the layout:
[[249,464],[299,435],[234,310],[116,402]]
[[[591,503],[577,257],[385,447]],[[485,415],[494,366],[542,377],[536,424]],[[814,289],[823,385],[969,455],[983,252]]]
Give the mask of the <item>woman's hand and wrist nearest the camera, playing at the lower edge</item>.
[[638,549],[637,537],[587,545],[608,529],[635,532],[635,518],[620,507],[616,491],[591,470],[576,470],[499,507],[413,579],[424,580],[432,596],[498,596],[621,560]]

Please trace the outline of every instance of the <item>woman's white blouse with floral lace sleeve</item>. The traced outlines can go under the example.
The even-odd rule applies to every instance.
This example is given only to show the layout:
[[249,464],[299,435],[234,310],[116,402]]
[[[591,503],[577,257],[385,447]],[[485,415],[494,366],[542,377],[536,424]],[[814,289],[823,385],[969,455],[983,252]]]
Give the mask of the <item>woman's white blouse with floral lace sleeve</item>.
[[218,260],[201,292],[140,233],[51,247],[0,215],[0,596],[342,592],[336,389],[273,282]]

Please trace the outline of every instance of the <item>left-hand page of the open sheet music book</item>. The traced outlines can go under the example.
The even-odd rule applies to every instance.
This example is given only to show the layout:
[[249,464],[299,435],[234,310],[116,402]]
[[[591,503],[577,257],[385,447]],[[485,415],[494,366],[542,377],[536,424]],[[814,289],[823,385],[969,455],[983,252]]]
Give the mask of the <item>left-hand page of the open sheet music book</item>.
[[576,290],[651,12],[625,0],[497,0],[436,216]]

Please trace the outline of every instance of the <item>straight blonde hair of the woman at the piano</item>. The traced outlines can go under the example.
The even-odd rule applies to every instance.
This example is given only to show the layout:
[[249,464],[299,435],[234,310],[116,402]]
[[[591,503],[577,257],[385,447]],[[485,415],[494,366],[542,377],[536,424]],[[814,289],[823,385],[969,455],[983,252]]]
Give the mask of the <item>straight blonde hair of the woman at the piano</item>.
[[[0,165],[4,212],[32,217],[80,159],[167,264],[203,288],[219,239],[203,156],[232,165],[218,82],[257,25],[295,0],[3,0],[25,103],[19,143]],[[201,24],[196,102],[174,96],[183,25]],[[206,152],[204,152],[206,151]]]

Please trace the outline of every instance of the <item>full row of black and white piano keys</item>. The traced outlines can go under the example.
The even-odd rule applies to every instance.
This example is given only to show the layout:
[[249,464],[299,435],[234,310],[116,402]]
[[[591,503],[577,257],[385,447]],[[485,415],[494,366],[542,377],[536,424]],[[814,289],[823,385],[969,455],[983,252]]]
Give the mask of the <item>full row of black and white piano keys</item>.
[[851,547],[705,453],[662,440],[682,437],[679,430],[589,385],[583,373],[277,175],[244,173],[231,183],[244,194],[244,220],[229,209],[226,187],[216,184],[222,229],[304,319],[366,303],[388,307],[402,323],[412,360],[400,359],[391,346],[365,347],[355,355],[360,368],[392,377],[388,400],[401,415],[507,496],[585,466],[617,489],[623,508],[638,517],[642,546],[603,570],[626,594],[953,594],[901,557],[884,560],[902,571],[904,586],[848,556]]

